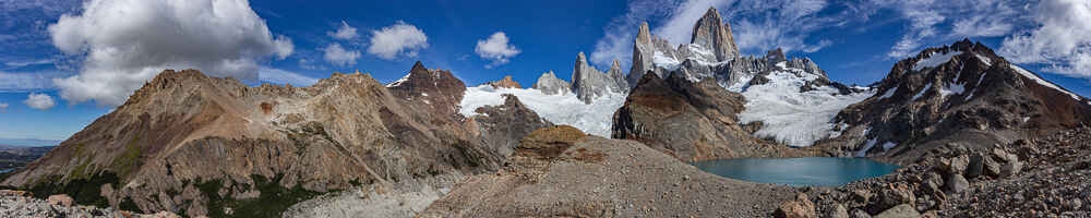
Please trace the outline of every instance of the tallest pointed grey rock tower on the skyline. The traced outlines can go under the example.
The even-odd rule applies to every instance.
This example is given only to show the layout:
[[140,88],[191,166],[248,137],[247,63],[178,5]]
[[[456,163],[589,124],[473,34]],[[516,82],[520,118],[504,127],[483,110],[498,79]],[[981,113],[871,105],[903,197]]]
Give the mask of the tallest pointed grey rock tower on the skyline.
[[720,19],[720,12],[716,8],[708,8],[705,15],[697,20],[693,26],[693,35],[690,44],[700,45],[712,49],[717,61],[728,61],[739,57],[739,48],[735,46],[730,24],[724,24]]

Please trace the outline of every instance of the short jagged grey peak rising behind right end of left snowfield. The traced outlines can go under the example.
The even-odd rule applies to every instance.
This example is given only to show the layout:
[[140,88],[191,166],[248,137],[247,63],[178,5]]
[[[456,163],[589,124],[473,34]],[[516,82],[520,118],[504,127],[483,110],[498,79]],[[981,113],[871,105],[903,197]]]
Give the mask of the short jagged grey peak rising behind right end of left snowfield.
[[609,75],[587,64],[587,57],[584,56],[584,52],[579,52],[572,71],[572,90],[580,100],[590,104],[599,96],[621,93],[623,89],[618,87],[618,84]]

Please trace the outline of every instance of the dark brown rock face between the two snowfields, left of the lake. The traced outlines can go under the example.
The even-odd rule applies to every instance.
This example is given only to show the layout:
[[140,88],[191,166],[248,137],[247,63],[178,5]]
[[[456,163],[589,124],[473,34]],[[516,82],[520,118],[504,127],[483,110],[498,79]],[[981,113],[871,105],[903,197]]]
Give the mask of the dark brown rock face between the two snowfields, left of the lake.
[[614,113],[613,138],[634,140],[681,160],[815,155],[755,138],[735,116],[745,100],[711,80],[645,74]]

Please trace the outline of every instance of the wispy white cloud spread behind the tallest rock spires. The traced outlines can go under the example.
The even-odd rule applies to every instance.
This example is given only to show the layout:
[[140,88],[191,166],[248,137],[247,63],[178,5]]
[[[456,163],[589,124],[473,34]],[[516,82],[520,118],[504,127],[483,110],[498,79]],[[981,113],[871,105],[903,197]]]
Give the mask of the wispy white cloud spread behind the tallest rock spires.
[[776,48],[814,52],[832,41],[817,39],[815,44],[808,43],[815,40],[811,38],[811,33],[843,25],[846,17],[859,16],[848,10],[819,15],[828,4],[826,0],[633,1],[625,15],[614,17],[603,29],[604,36],[596,43],[590,61],[609,65],[613,59],[632,60],[633,40],[639,24],[645,21],[651,24],[652,34],[671,44],[688,44],[693,25],[709,7],[717,8],[723,22],[731,24],[735,43],[744,53],[764,55]]

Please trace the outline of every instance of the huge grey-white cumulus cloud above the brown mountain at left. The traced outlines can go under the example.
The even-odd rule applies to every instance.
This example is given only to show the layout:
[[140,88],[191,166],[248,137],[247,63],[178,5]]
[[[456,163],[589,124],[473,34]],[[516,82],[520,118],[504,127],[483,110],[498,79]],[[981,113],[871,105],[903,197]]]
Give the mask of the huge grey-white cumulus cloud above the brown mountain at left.
[[91,0],[48,29],[53,46],[83,59],[77,75],[55,80],[60,97],[107,106],[164,69],[254,81],[263,59],[295,49],[245,0]]

